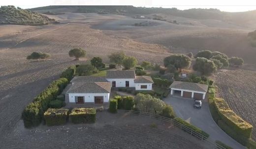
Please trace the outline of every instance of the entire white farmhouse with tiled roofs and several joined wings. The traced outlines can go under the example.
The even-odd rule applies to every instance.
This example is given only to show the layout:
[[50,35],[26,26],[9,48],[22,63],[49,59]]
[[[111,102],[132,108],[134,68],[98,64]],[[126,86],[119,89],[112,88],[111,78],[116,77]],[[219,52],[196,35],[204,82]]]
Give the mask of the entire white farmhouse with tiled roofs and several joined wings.
[[112,87],[133,87],[135,90],[152,90],[150,76],[136,76],[135,71],[107,71],[106,77],[75,76],[67,90],[71,103],[103,103],[109,101]]

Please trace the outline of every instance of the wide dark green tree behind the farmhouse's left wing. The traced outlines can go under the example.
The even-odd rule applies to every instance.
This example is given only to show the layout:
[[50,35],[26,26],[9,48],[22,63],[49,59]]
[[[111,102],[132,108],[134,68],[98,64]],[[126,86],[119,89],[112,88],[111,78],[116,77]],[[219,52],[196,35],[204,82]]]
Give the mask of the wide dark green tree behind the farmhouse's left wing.
[[86,64],[86,65],[79,65],[76,68],[76,73],[78,75],[93,75],[98,73],[98,70],[94,66]]

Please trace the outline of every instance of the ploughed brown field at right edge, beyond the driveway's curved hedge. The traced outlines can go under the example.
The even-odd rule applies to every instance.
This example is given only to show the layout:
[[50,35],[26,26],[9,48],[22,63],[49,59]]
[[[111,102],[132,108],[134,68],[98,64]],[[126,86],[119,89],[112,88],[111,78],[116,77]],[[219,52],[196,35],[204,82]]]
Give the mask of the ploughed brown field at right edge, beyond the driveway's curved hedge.
[[218,73],[216,85],[220,97],[241,118],[254,126],[253,139],[256,140],[256,72],[229,70]]

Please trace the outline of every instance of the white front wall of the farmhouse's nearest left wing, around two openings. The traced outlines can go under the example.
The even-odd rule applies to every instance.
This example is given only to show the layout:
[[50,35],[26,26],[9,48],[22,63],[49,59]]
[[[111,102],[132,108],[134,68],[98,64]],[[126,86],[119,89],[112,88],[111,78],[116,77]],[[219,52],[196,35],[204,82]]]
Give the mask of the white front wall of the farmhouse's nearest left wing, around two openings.
[[103,102],[108,102],[110,93],[69,93],[69,102],[75,102],[76,96],[83,96],[85,102],[94,102],[95,96],[103,96]]

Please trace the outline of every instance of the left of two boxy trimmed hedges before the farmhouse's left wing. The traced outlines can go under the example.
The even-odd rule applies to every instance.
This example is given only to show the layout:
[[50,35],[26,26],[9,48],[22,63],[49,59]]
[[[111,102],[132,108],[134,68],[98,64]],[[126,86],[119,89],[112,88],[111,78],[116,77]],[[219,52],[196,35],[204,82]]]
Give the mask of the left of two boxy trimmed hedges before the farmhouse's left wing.
[[68,109],[47,109],[44,112],[45,124],[48,126],[66,124],[68,121]]

